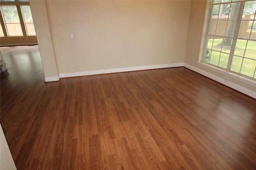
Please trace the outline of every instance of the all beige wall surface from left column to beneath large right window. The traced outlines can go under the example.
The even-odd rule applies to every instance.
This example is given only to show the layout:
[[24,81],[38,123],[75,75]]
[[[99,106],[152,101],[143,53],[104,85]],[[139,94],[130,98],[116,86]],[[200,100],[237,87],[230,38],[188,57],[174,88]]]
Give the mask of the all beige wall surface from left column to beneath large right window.
[[[227,75],[197,63],[202,58],[208,2],[31,0],[45,76],[171,61],[223,79]],[[255,92],[255,86],[228,78]]]

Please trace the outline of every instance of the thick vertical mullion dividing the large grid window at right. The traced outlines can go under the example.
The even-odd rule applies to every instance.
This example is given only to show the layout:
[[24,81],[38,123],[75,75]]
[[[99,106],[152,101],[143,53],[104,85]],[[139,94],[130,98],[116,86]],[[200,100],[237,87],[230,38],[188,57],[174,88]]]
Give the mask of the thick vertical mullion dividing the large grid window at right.
[[229,58],[228,58],[227,70],[230,70],[230,68],[231,68],[232,59],[233,59],[234,51],[235,51],[235,47],[236,47],[236,41],[237,41],[237,38],[238,38],[240,20],[242,18],[242,11],[243,11],[243,8],[244,8],[244,2],[242,1],[240,3],[241,4],[240,4],[238,17],[237,17],[237,21],[236,21],[236,28],[235,28],[235,31],[234,31],[234,37],[233,37],[233,41],[232,41],[232,45],[231,45],[231,49],[230,49],[230,55],[229,55]]

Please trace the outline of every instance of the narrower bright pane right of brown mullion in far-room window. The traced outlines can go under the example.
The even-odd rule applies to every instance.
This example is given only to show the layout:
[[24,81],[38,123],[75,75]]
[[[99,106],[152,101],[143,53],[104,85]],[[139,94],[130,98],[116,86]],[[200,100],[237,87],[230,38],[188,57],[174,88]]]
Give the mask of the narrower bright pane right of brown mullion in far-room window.
[[21,9],[22,9],[22,15],[24,18],[24,22],[26,25],[27,35],[36,35],[30,6],[22,5]]

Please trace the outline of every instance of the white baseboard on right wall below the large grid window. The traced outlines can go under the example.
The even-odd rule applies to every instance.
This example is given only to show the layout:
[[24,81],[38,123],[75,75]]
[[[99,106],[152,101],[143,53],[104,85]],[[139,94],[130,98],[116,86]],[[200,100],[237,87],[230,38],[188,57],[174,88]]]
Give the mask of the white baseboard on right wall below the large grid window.
[[233,88],[233,89],[237,90],[238,92],[244,93],[244,94],[246,94],[246,95],[256,99],[256,92],[254,92],[254,91],[252,91],[250,89],[244,88],[243,86],[240,86],[240,85],[235,84],[235,83],[230,82],[230,81],[226,82],[223,78],[215,76],[215,75],[213,75],[213,74],[211,74],[209,72],[206,72],[204,70],[201,70],[201,69],[196,68],[194,66],[191,66],[189,64],[184,63],[184,67],[186,67],[186,68],[188,68],[190,70],[193,70],[193,71],[195,71],[195,72],[197,72],[199,74],[202,74],[202,75],[204,75],[204,76],[206,76],[208,78],[211,78],[212,80],[215,80],[216,82],[224,84],[224,85],[226,85],[226,86],[228,86],[230,88]]

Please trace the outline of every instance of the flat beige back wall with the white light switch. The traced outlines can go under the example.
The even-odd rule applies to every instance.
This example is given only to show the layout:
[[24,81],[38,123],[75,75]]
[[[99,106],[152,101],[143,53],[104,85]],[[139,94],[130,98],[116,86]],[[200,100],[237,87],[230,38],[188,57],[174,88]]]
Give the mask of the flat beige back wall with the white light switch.
[[47,6],[60,74],[184,62],[190,1],[48,0]]

